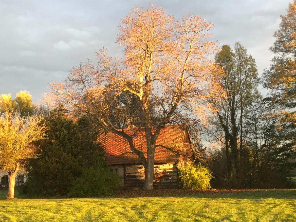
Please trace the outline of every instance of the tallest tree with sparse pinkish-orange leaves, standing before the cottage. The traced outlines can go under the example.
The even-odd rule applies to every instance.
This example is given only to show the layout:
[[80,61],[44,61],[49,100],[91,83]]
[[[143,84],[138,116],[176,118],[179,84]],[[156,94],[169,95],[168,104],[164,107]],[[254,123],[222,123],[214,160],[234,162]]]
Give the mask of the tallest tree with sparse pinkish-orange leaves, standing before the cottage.
[[[126,139],[144,165],[144,189],[153,189],[160,130],[170,123],[197,126],[209,118],[216,111],[212,104],[224,96],[223,70],[209,59],[216,49],[208,41],[212,24],[200,16],[176,21],[163,8],[133,8],[119,28],[122,59],[107,57],[102,49],[96,53],[96,65],[88,61],[73,67],[64,82],[52,83],[52,90],[72,113],[87,112],[104,131]],[[131,99],[118,102],[124,92]],[[147,154],[135,147],[131,135],[118,129],[118,122],[132,123],[145,132]]]

